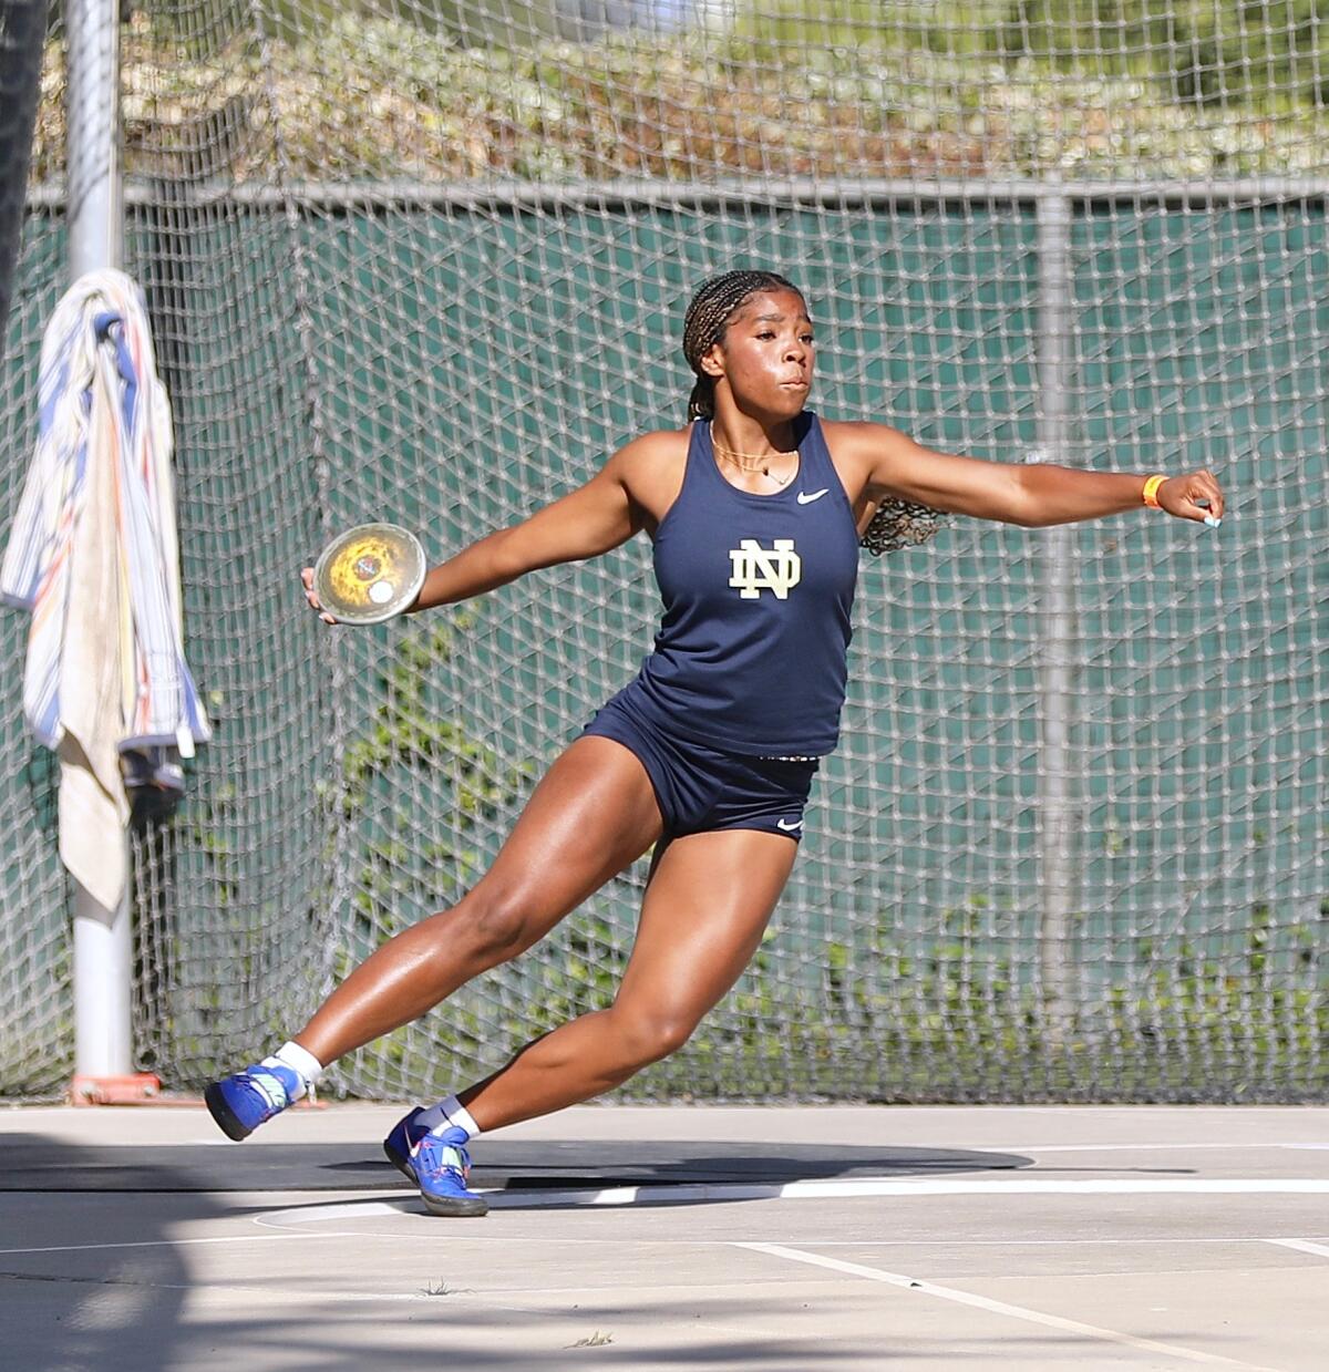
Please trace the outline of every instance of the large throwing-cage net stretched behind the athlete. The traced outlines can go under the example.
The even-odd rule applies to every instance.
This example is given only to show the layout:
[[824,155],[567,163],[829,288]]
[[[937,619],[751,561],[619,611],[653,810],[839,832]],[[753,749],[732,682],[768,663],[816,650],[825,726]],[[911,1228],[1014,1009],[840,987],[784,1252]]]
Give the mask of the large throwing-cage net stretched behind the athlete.
[[[771,933],[628,1089],[1322,1096],[1318,7],[154,0],[123,63],[128,269],[215,724],[136,840],[139,1066],[188,1087],[248,1061],[465,890],[657,613],[640,541],[362,631],[318,624],[299,567],[369,519],[440,558],[676,427],[693,288],[769,266],[812,303],[823,413],[1008,461],[1210,466],[1232,512],[956,519],[864,556],[845,742]],[[58,147],[55,99],[41,128]],[[49,300],[59,224],[27,233]],[[15,321],[27,355],[47,313]],[[25,785],[0,801],[33,833],[4,938],[53,949]],[[442,1091],[606,1004],[643,881],[333,1084]],[[53,960],[5,960],[0,1015]]]

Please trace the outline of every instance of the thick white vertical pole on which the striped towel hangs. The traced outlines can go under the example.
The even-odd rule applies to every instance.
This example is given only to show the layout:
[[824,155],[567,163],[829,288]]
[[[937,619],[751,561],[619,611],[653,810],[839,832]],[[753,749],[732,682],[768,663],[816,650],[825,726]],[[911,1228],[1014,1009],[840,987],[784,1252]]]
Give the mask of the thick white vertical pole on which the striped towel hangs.
[[[123,263],[119,0],[67,0],[70,279]],[[128,848],[128,834],[117,836]],[[128,864],[126,864],[128,867]],[[106,910],[74,886],[74,1074],[128,1076],[133,1065],[129,889]]]

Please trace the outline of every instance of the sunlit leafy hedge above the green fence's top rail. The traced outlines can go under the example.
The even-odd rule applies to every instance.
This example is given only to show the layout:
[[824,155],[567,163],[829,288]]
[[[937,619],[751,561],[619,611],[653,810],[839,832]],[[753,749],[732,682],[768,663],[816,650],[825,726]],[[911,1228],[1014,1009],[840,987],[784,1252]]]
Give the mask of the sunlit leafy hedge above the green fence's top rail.
[[[724,34],[527,47],[464,47],[446,29],[340,12],[289,40],[237,33],[204,56],[136,22],[125,43],[126,169],[222,189],[1324,169],[1329,58],[1308,47],[1326,27],[1307,18],[1310,0],[1260,7],[1267,30],[1225,18],[1232,4],[1208,29],[1200,4],[1159,19],[1158,0],[1122,0],[1119,23],[1103,19],[1108,0],[1079,4],[1018,0],[1001,7],[1004,25],[986,26],[972,15],[948,25],[939,5],[931,27],[868,30],[856,18],[867,10],[845,3],[815,44],[793,41],[811,0]],[[1167,43],[1155,41],[1159,25]],[[853,41],[860,30],[879,41]],[[63,166],[60,62],[52,48],[38,180]]]

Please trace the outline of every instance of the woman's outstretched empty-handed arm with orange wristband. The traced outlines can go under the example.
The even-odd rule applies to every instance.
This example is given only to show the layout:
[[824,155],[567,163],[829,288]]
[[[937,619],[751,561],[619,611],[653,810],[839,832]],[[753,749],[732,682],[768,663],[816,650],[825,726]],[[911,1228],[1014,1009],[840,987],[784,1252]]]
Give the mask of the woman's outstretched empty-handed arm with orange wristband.
[[[885,424],[843,424],[837,431],[837,447],[864,471],[870,499],[893,495],[1026,528],[1137,509],[1148,479],[1147,473],[955,457],[923,447]],[[1178,519],[1223,516],[1223,493],[1208,472],[1169,477],[1158,488],[1158,502]]]

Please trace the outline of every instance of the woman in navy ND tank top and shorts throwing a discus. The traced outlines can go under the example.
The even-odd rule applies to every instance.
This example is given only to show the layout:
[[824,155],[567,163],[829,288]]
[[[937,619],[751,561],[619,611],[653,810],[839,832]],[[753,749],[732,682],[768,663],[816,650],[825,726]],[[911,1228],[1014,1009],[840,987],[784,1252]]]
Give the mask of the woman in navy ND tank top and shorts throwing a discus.
[[[806,407],[808,303],[771,272],[705,283],[687,309],[683,355],[695,376],[684,427],[634,439],[586,484],[433,567],[402,611],[481,595],[645,534],[664,602],[654,652],[553,763],[472,890],[384,943],[270,1056],[208,1087],[230,1137],[285,1109],[343,1054],[516,958],[653,848],[613,1004],[411,1110],[385,1140],[431,1211],[481,1214],[465,1180],[476,1133],[587,1100],[672,1052],[760,945],[817,763],[838,741],[865,531],[874,549],[889,545],[881,521],[918,506],[1029,528],[1147,508],[1211,525],[1223,516],[1208,472],[985,461],[886,424],[823,420]],[[503,461],[502,435],[492,453]],[[302,580],[310,606],[336,623],[314,569]]]

